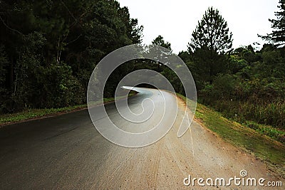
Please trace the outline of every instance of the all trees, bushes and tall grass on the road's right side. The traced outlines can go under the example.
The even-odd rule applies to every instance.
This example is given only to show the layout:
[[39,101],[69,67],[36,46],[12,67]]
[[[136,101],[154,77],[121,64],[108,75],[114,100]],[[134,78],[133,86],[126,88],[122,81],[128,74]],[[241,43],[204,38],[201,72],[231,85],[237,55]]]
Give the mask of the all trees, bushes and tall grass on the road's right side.
[[[259,50],[252,45],[232,49],[227,21],[210,7],[193,31],[188,51],[178,56],[191,70],[199,103],[285,143],[285,26],[279,24],[285,19],[285,1],[279,8],[278,19],[270,19],[272,33],[261,36],[269,43]],[[160,40],[157,45],[169,44]],[[184,93],[172,70],[165,67],[161,73],[177,93]]]

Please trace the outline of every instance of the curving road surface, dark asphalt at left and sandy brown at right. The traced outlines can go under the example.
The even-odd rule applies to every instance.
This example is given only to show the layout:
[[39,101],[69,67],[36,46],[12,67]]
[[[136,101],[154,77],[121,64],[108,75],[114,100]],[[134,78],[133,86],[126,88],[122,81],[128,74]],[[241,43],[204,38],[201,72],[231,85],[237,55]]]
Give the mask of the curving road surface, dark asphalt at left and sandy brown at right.
[[[133,97],[130,107],[142,109],[140,102],[145,97],[161,101],[161,95],[150,90],[147,95]],[[177,118],[183,117],[183,102],[177,103],[170,93],[165,102],[168,106],[177,104]],[[109,104],[106,109],[122,124],[115,105]],[[124,123],[120,126],[132,130]],[[175,121],[165,137],[142,148],[109,142],[95,130],[88,110],[1,127],[0,189],[261,189],[183,184],[189,175],[204,179],[240,177],[242,169],[249,177],[277,180],[262,162],[223,142],[197,122],[192,122],[191,130],[180,138],[179,127]]]

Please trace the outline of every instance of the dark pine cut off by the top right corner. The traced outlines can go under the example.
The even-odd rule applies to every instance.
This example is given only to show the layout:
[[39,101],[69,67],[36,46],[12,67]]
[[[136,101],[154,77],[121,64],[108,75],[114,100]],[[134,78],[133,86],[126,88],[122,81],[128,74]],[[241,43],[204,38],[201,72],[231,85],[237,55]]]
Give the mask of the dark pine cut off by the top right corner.
[[272,23],[272,33],[267,33],[266,36],[259,35],[259,37],[274,43],[276,46],[283,46],[285,45],[285,0],[279,0],[279,4],[277,7],[281,10],[275,12],[277,19],[269,19]]

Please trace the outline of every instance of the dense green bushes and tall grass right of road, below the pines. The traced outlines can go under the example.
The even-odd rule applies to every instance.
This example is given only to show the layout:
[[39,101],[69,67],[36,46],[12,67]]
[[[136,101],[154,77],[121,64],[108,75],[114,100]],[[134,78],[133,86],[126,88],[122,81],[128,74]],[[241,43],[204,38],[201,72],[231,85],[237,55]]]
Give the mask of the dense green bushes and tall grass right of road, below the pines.
[[253,120],[285,129],[284,55],[284,48],[272,45],[261,51],[238,48],[229,56],[227,73],[204,83],[199,100],[239,122]]

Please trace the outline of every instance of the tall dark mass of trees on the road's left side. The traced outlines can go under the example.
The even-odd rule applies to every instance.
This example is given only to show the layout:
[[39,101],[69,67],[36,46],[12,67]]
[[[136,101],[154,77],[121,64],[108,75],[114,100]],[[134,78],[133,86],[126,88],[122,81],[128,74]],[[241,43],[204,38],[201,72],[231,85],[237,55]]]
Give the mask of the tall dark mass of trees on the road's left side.
[[142,26],[115,0],[0,1],[0,111],[86,102],[96,63],[140,43]]

